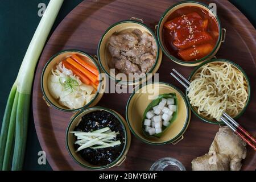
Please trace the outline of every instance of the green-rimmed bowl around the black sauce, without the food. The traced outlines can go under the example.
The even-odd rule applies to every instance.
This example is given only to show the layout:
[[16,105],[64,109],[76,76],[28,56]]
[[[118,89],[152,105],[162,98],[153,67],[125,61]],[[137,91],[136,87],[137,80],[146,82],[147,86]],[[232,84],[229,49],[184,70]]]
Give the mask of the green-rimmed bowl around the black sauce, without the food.
[[[110,114],[114,115],[115,118],[118,119],[120,122],[120,125],[122,126],[123,129],[123,135],[124,135],[124,145],[121,151],[121,154],[118,156],[117,159],[115,159],[112,163],[106,165],[106,166],[96,166],[93,164],[90,164],[88,161],[86,161],[82,156],[76,152],[75,150],[75,136],[70,133],[71,131],[74,131],[75,127],[79,125],[81,122],[81,118],[89,114],[93,111],[107,111]],[[107,109],[105,107],[90,107],[88,109],[83,109],[73,115],[71,118],[71,121],[69,122],[67,131],[66,131],[66,146],[69,152],[69,155],[71,155],[72,159],[75,160],[76,163],[80,164],[80,166],[88,168],[88,169],[107,169],[111,168],[114,166],[121,166],[121,164],[125,161],[127,152],[129,151],[130,148],[130,143],[131,143],[131,134],[129,127],[125,121],[125,119],[118,114],[116,111],[113,111],[111,109]]]

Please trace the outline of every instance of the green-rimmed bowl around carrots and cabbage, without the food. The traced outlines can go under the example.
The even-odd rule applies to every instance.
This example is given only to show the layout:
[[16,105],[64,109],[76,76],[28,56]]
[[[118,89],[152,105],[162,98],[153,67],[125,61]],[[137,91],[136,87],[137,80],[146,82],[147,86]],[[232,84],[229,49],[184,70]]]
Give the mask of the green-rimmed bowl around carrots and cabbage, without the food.
[[41,88],[42,88],[42,92],[43,92],[43,99],[44,99],[44,101],[46,101],[46,104],[48,106],[53,106],[56,109],[61,110],[61,111],[75,112],[75,111],[79,111],[86,107],[92,107],[92,106],[96,105],[101,100],[101,97],[103,96],[104,91],[105,91],[106,80],[105,80],[105,77],[102,77],[102,75],[100,74],[100,76],[99,76],[100,83],[98,84],[98,89],[96,90],[95,96],[85,106],[82,106],[77,109],[69,109],[68,107],[61,105],[59,103],[59,101],[57,101],[55,98],[52,97],[51,93],[49,92],[48,84],[47,84],[48,77],[49,77],[49,75],[51,75],[51,70],[53,68],[55,68],[56,65],[60,63],[60,61],[63,61],[67,57],[74,55],[74,54],[80,56],[80,58],[82,60],[88,61],[89,64],[94,65],[97,68],[98,72],[101,73],[101,69],[98,66],[97,60],[94,59],[94,57],[90,56],[86,52],[75,50],[75,49],[68,49],[68,50],[60,51],[60,52],[56,53],[55,55],[53,55],[48,60],[48,62],[46,63],[46,65],[43,68],[43,72],[42,72],[42,76],[41,76]]

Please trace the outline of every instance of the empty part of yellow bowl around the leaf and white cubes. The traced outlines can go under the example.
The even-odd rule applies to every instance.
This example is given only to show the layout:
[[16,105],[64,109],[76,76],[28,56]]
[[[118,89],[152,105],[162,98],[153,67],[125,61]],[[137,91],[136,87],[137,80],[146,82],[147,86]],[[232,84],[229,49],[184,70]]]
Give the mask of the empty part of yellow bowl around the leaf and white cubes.
[[[177,117],[174,122],[164,131],[160,138],[148,137],[143,134],[142,120],[147,106],[164,93],[176,93],[177,97]],[[183,139],[183,134],[187,130],[191,117],[191,112],[185,95],[175,86],[166,82],[154,82],[152,84],[140,85],[131,94],[126,105],[126,121],[131,132],[142,142],[152,145],[176,144]]]

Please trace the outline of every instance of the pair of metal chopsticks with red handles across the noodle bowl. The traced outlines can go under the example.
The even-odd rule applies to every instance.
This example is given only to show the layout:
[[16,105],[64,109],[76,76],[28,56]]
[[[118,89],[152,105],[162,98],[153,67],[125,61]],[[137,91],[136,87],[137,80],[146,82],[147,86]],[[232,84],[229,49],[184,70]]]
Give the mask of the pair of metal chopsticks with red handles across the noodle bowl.
[[[190,82],[185,77],[183,77],[179,72],[177,72],[175,69],[172,69],[172,71],[174,71],[176,75],[178,75],[182,80],[184,80],[185,83],[181,81],[176,75],[174,75],[174,73],[171,73],[171,76],[173,76],[177,81],[180,82],[180,84],[182,84],[186,89],[188,89]],[[238,124],[227,113],[224,113],[221,116],[221,121],[223,121],[227,126],[229,126],[230,129],[234,131],[234,133],[236,133],[239,137],[241,137],[247,144],[249,144],[249,146],[251,146],[256,151],[256,140],[253,137],[253,135],[248,133],[240,124]]]

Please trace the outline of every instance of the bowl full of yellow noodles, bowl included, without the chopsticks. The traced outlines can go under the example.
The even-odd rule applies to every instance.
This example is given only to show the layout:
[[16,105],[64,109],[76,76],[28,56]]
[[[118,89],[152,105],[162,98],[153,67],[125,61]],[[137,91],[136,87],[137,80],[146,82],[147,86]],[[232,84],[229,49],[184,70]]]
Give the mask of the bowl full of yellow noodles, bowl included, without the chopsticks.
[[236,119],[250,101],[250,82],[242,68],[225,59],[200,64],[189,76],[186,91],[191,110],[203,121],[221,124],[225,112]]

